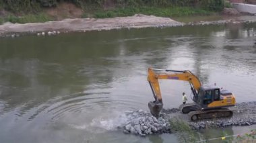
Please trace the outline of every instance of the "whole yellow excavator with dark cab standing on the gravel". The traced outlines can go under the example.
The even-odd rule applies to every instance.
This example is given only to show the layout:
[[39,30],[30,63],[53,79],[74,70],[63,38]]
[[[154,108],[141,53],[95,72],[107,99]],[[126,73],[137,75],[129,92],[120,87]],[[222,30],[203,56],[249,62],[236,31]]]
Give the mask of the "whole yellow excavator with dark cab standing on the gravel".
[[148,68],[148,82],[155,101],[150,101],[148,107],[155,117],[159,117],[162,110],[162,96],[158,79],[188,81],[191,86],[193,103],[180,106],[183,113],[188,113],[192,121],[217,117],[231,117],[232,111],[226,107],[236,104],[232,93],[218,87],[203,87],[199,79],[189,70],[164,70]]

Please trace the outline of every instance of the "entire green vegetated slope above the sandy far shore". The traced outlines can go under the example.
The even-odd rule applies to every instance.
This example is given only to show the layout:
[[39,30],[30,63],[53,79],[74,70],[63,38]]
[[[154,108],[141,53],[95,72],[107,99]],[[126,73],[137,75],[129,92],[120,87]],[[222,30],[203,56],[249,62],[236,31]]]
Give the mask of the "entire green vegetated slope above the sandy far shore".
[[[67,18],[63,16],[67,7],[59,8],[61,3],[76,5],[75,9],[84,11],[77,17],[121,17],[135,13],[156,15],[161,17],[182,17],[190,15],[215,15],[224,8],[224,0],[0,0],[0,24],[6,21],[11,23],[44,22]],[[51,15],[47,9],[54,9],[57,15]],[[67,9],[65,11],[65,9]],[[60,12],[58,12],[60,11]],[[74,12],[75,13],[75,12]]]

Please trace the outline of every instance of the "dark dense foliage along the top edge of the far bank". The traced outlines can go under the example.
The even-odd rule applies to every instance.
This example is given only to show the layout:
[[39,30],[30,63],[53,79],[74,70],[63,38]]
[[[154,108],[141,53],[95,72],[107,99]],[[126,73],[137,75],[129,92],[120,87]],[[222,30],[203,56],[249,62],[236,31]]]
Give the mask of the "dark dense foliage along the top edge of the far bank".
[[141,5],[201,7],[213,11],[220,11],[224,7],[224,0],[0,0],[0,7],[14,12],[37,11],[40,7],[55,7],[61,1],[75,3],[81,7],[83,5],[104,7],[107,3],[119,7],[138,7]]

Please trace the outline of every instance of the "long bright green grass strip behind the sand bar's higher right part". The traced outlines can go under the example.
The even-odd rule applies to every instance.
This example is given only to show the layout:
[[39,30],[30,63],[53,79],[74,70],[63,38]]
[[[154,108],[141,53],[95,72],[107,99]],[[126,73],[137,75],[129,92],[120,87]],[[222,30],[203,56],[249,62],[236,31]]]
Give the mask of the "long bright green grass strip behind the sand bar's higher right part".
[[213,11],[207,11],[195,7],[119,7],[113,10],[98,10],[93,13],[93,17],[106,18],[106,17],[122,17],[131,16],[135,13],[145,15],[156,15],[161,17],[179,17],[189,15],[212,15]]

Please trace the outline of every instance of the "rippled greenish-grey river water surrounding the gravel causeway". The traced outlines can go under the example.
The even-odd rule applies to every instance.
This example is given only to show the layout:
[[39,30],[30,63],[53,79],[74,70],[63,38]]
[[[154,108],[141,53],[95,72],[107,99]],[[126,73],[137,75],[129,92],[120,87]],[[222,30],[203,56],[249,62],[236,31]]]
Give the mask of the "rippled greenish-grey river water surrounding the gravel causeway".
[[[255,42],[256,23],[1,38],[0,142],[178,142],[176,134],[118,129],[125,111],[148,111],[154,99],[148,67],[191,70],[237,102],[255,101]],[[190,95],[184,81],[160,85],[166,109]],[[249,129],[201,132],[214,138],[222,130]]]

